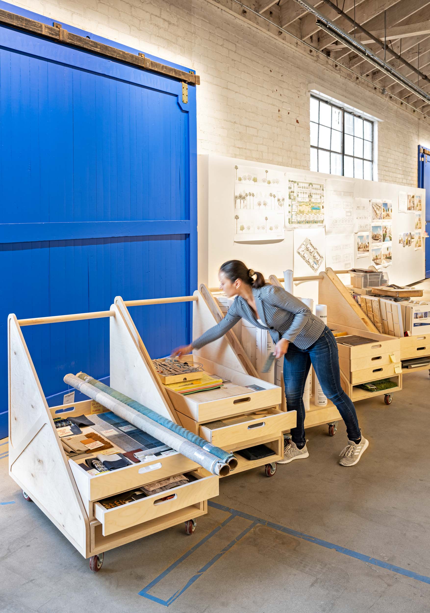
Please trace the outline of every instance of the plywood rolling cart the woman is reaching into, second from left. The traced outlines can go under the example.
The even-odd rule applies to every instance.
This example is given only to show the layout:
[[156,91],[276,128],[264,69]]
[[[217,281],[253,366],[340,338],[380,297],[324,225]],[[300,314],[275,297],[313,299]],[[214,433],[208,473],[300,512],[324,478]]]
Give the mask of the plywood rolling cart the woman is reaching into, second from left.
[[[296,412],[287,414],[279,408],[281,388],[257,378],[257,373],[235,335],[230,332],[202,349],[193,351],[192,356],[183,357],[187,362],[194,360],[202,364],[206,372],[221,377],[225,382],[221,390],[184,396],[163,385],[127,309],[131,306],[192,302],[193,338],[198,338],[219,321],[213,305],[206,300],[208,294],[207,289],[201,287],[192,296],[177,298],[124,301],[116,297],[115,306],[140,346],[148,368],[152,369],[166,405],[176,411],[178,422],[225,451],[235,453],[264,444],[274,452],[273,455],[247,460],[238,453],[238,466],[230,474],[265,466],[266,476],[272,476],[276,472],[277,460],[281,460],[284,455],[282,432],[294,427]],[[222,316],[221,311],[220,314]],[[257,386],[259,389],[247,386]]]

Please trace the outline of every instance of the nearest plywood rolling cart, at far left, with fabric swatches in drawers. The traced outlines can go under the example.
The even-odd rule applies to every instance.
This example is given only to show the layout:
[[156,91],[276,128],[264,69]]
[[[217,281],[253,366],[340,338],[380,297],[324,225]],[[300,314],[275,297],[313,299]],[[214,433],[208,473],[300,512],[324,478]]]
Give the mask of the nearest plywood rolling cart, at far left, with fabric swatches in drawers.
[[[99,570],[104,552],[177,524],[186,533],[195,519],[207,512],[208,498],[219,493],[219,479],[198,471],[200,465],[181,454],[134,463],[106,473],[89,474],[82,459],[67,457],[53,418],[103,413],[91,400],[48,407],[21,326],[55,324],[82,319],[110,318],[110,384],[138,402],[178,422],[172,403],[160,394],[158,381],[148,368],[134,331],[120,308],[39,319],[9,316],[9,474],[26,500],[39,506],[90,568]],[[82,430],[84,432],[84,430]],[[119,449],[121,451],[121,449]],[[90,453],[85,457],[94,457]],[[141,500],[107,509],[100,500],[178,474],[190,476],[186,485]]]

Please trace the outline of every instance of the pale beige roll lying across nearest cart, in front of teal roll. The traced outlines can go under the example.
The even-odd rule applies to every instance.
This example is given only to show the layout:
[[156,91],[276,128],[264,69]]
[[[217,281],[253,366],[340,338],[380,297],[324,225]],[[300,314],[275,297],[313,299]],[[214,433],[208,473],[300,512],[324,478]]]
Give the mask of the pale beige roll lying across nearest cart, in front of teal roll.
[[[210,473],[224,477],[230,472],[230,466],[227,463],[222,462],[216,455],[206,451],[195,443],[192,443],[186,437],[179,435],[170,428],[157,423],[150,417],[147,417],[145,414],[140,413],[136,406],[146,409],[146,407],[143,405],[139,405],[139,403],[136,402],[134,403],[135,406],[132,408],[131,406],[126,405],[124,402],[121,402],[121,400],[113,395],[123,396],[123,394],[119,394],[119,392],[116,392],[116,390],[113,390],[108,386],[104,387],[107,387],[110,393],[101,391],[98,387],[85,381],[84,378],[89,379],[89,381],[96,381],[96,379],[92,379],[88,375],[85,375],[85,373],[81,373],[81,377],[69,374],[64,377],[64,382],[72,387],[75,387],[75,389],[78,389],[80,392],[82,392],[82,394],[92,398],[92,400],[96,400],[96,402],[99,402],[100,405],[105,406],[119,417],[122,417],[126,421],[130,422],[130,424],[135,425],[137,428],[140,428],[140,430],[147,432],[151,436],[154,436],[154,438],[162,441],[162,443],[172,447],[172,449],[175,449],[175,451],[178,451],[180,454],[185,455],[185,457],[189,458],[190,460],[200,464],[200,466],[203,466],[203,468],[208,470]],[[99,384],[100,382],[96,381],[96,383]],[[130,398],[130,402],[134,401],[132,401]],[[149,411],[150,409],[146,410]],[[166,419],[166,421],[168,422],[170,420]],[[178,427],[180,428],[180,426]],[[185,430],[185,428],[182,429],[191,438],[195,436],[188,430]],[[207,441],[205,441],[205,443],[208,444]]]

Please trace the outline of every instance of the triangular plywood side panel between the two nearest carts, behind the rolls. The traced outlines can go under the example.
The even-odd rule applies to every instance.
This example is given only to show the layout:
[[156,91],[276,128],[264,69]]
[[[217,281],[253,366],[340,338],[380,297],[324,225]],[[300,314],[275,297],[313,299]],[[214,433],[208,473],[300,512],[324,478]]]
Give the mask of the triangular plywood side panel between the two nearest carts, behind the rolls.
[[179,423],[151,358],[121,297],[111,307],[110,386],[159,415]]

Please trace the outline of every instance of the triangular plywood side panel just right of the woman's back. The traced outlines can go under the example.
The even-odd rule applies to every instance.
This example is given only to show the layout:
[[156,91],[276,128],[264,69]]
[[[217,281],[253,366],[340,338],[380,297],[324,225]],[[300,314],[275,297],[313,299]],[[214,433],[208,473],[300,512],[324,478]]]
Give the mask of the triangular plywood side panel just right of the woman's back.
[[330,324],[378,334],[378,330],[331,268],[327,268],[326,272],[320,272],[320,277],[319,302],[326,305],[327,321]]

